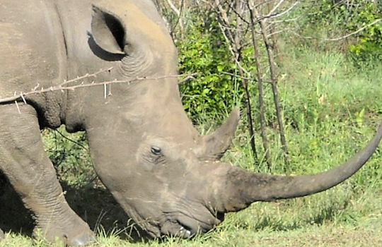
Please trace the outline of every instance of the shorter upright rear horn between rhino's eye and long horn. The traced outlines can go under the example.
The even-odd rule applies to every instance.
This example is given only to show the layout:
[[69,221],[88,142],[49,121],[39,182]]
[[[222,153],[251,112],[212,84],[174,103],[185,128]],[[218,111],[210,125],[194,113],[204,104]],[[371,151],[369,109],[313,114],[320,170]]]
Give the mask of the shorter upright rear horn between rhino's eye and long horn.
[[196,153],[200,160],[218,160],[231,145],[235,135],[238,121],[240,119],[240,109],[235,107],[228,117],[226,123],[220,126],[214,133],[205,135],[200,140]]

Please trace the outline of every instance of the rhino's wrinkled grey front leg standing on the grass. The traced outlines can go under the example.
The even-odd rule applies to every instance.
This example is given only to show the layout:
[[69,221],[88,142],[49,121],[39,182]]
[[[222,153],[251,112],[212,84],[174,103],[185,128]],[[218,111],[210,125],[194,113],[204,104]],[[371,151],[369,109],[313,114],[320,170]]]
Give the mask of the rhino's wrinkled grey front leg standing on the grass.
[[0,104],[0,169],[33,211],[45,239],[57,237],[70,246],[94,240],[86,222],[66,203],[50,159],[44,151],[35,109],[20,103]]

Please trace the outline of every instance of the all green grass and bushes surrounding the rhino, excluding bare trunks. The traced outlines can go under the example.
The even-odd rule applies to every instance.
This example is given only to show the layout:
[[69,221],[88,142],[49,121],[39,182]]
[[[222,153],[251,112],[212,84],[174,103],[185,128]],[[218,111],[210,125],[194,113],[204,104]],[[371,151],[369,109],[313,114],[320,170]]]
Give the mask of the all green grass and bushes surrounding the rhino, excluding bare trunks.
[[[195,126],[209,133],[239,105],[241,125],[224,159],[252,171],[310,174],[352,157],[374,135],[382,116],[381,1],[268,1],[281,3],[279,16],[265,19],[276,23],[268,31],[274,33],[272,49],[288,147],[284,159],[267,47],[257,29],[270,163],[262,145],[259,80],[250,32],[242,35],[243,76],[225,37],[221,12],[214,6],[219,3],[235,16],[239,2],[246,1],[157,1],[179,50],[180,73],[198,73],[180,86],[185,110]],[[241,28],[238,19],[229,20],[231,27]],[[248,133],[247,100],[252,106],[256,153]],[[93,246],[382,246],[381,147],[361,171],[328,191],[253,203],[194,239],[148,241],[141,240],[134,223],[94,174],[86,133],[69,135],[64,128],[42,133],[69,204],[98,233]],[[1,223],[8,233],[0,246],[51,246],[43,239],[30,239],[33,221],[10,186],[3,186],[0,197],[15,202],[0,205],[1,216],[13,222]]]

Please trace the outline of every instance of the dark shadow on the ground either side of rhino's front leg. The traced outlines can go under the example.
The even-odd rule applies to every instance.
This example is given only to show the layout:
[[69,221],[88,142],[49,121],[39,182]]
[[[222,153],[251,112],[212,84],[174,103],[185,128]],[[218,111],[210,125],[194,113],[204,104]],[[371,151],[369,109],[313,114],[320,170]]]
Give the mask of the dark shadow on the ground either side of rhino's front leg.
[[[121,239],[131,242],[150,239],[129,219],[105,188],[94,186],[93,183],[81,188],[62,183],[62,188],[66,191],[65,198],[71,208],[93,231],[117,233]],[[34,226],[32,213],[24,207],[21,198],[0,171],[0,229],[32,236]]]

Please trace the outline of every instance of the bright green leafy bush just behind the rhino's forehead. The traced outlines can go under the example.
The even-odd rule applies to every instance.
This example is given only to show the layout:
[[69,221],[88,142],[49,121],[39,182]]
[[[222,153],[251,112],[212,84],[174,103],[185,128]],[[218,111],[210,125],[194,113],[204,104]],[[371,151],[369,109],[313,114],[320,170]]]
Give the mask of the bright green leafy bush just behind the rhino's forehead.
[[238,88],[236,66],[224,43],[214,13],[203,19],[193,10],[186,37],[177,41],[180,73],[200,73],[196,80],[180,86],[189,116],[208,114],[212,118],[229,112],[242,90]]

